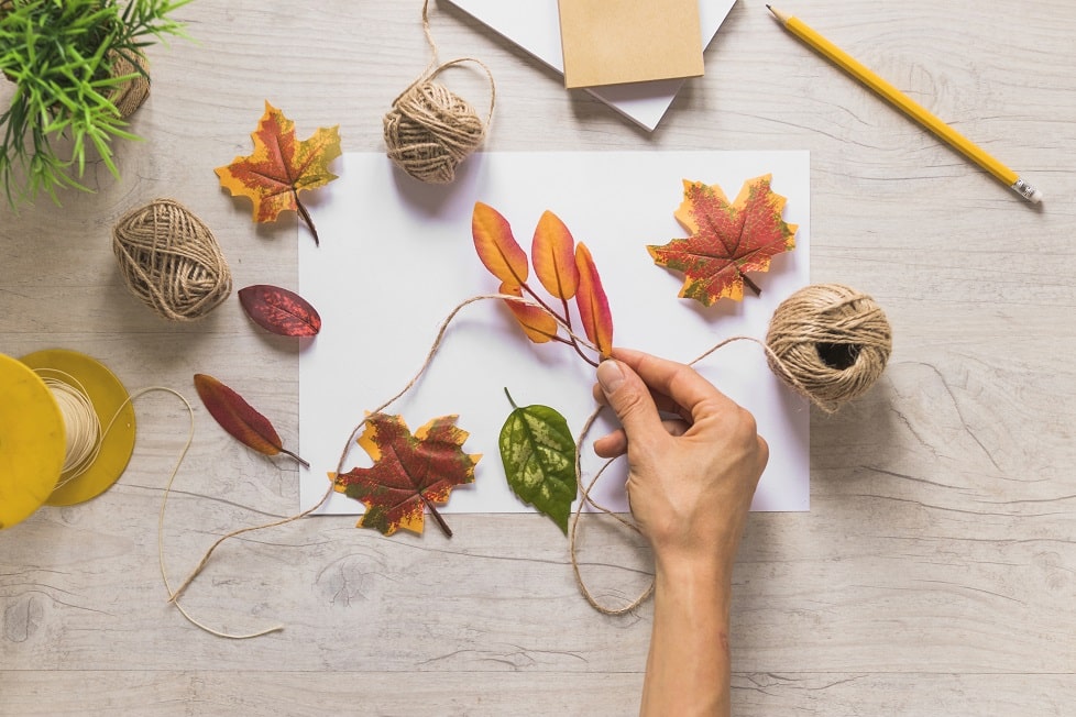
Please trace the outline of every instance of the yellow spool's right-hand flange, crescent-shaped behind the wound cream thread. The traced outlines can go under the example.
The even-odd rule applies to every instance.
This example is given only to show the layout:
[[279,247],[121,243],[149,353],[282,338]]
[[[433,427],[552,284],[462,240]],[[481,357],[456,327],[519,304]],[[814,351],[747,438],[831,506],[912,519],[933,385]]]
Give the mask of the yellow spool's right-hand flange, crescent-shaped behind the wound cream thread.
[[[101,430],[116,416],[116,422],[101,442],[100,453],[94,464],[77,478],[67,481],[53,490],[45,505],[70,506],[96,498],[123,475],[134,452],[134,406],[125,402],[129,398],[127,389],[107,366],[77,351],[46,349],[28,354],[21,361],[31,368],[52,368],[76,378],[94,405]],[[65,451],[66,442],[59,449],[61,464]],[[59,482],[65,477],[62,476]]]

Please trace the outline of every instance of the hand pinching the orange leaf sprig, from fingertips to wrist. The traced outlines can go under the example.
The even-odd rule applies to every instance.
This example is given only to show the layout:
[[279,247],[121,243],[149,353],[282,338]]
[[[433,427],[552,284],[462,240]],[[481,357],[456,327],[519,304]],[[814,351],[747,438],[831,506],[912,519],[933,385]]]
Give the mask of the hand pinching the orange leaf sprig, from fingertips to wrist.
[[[684,364],[616,349],[597,367],[594,395],[623,429],[594,442],[627,453],[627,493],[657,567],[690,564],[731,580],[769,449],[755,418]],[[679,420],[662,421],[659,411]]]

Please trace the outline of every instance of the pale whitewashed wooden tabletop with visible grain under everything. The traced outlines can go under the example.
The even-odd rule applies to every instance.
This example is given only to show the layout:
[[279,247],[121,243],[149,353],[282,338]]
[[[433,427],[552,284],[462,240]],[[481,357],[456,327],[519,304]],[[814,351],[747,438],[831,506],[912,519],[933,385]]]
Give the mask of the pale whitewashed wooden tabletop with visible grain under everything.
[[[789,2],[1037,185],[1032,208],[812,54],[761,0],[734,7],[652,134],[446,3],[443,59],[497,82],[488,151],[810,150],[812,280],[871,294],[893,326],[864,398],[811,421],[812,507],[755,514],[735,573],[737,715],[1069,715],[1076,703],[1076,4]],[[226,435],[191,375],[232,383],[297,437],[294,342],[234,299],[194,324],[127,291],[111,228],[157,197],[209,224],[237,286],[294,287],[294,216],[255,227],[213,167],[250,151],[270,100],[300,135],[340,124],[383,150],[382,115],[428,59],[420,2],[197,0],[195,43],[150,56],[153,93],[118,146],[122,179],[18,213],[0,207],[0,351],[75,349],[131,388],[194,398],[197,435],[164,530],[173,580],[220,534],[287,515],[297,472]],[[483,77],[444,81],[480,106]],[[0,101],[10,97],[0,87]],[[532,188],[537,191],[540,188]],[[347,517],[227,543],[166,603],[157,509],[185,437],[167,395],[136,402],[120,482],[0,533],[3,715],[627,715],[649,605],[604,617],[538,516],[455,516],[451,540],[385,539]],[[603,595],[646,583],[637,541],[593,528]]]

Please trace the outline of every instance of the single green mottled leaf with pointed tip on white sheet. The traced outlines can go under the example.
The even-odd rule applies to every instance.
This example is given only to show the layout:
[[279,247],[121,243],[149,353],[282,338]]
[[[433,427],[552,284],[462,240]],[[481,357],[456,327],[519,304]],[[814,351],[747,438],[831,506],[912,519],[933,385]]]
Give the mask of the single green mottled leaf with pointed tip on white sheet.
[[508,487],[567,534],[577,490],[575,439],[568,421],[552,408],[519,408],[515,401],[512,407],[498,441]]

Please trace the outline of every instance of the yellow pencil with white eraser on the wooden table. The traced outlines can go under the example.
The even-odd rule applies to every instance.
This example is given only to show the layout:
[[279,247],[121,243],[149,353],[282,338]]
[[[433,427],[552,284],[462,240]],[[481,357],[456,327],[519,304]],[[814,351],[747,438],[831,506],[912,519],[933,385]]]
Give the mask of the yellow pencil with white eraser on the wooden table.
[[901,92],[899,89],[878,77],[874,71],[865,67],[860,62],[848,53],[844,52],[832,42],[820,35],[817,32],[805,25],[797,18],[781,12],[776,8],[769,8],[773,16],[786,30],[806,43],[809,47],[832,62],[834,65],[848,73],[857,80],[872,89],[883,99],[888,100],[893,107],[908,114],[938,137],[947,142],[952,147],[962,152],[968,159],[992,174],[1000,181],[1003,181],[1018,195],[1033,205],[1042,201],[1042,192],[1021,179],[1015,172],[1004,166],[989,154],[976,146],[970,140],[951,128],[948,124],[937,119],[924,107]]

